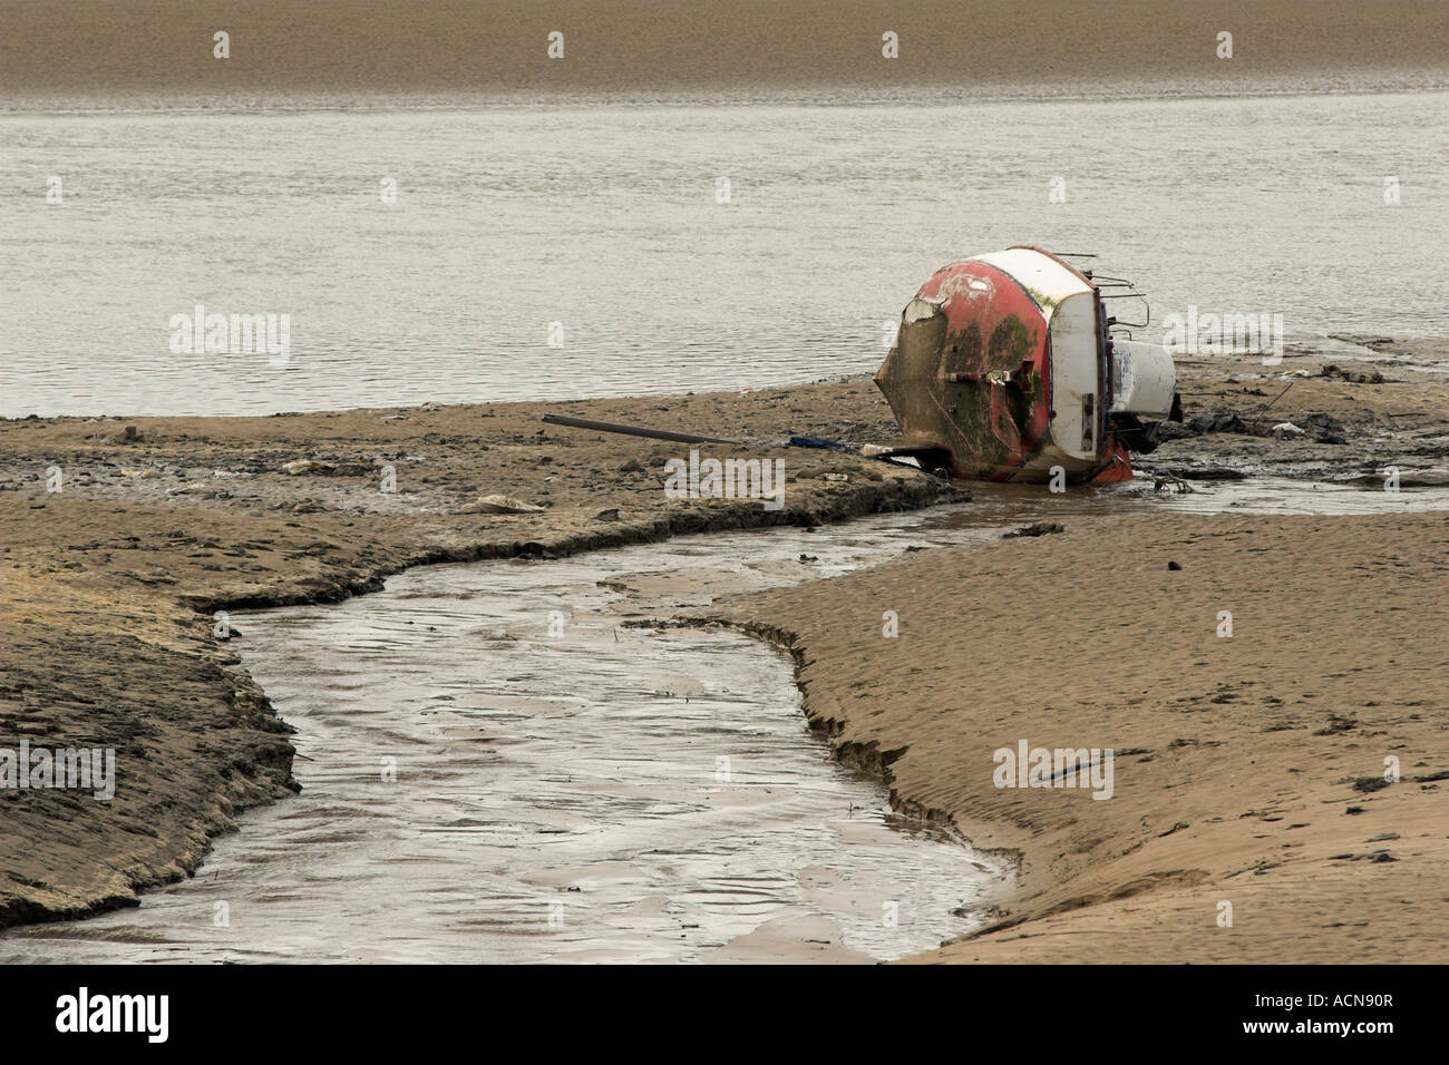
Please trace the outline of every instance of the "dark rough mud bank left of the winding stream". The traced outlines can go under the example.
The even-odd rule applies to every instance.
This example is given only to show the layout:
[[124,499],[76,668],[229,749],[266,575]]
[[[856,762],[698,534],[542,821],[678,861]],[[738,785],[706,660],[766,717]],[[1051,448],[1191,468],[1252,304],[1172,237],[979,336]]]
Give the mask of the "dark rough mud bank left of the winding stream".
[[[784,461],[784,504],[669,500],[664,464],[685,445],[543,426],[549,410],[749,439],[759,446],[738,454]],[[133,904],[138,890],[193,871],[236,810],[290,794],[291,729],[213,636],[214,611],[336,601],[425,562],[548,558],[966,497],[909,468],[774,446],[794,432],[867,439],[882,419],[861,383],[4,423],[0,736],[12,749],[114,748],[119,780],[110,803],[0,790],[0,926]],[[293,462],[312,465],[287,472]],[[381,490],[388,468],[396,491]],[[484,496],[542,510],[483,513]]]

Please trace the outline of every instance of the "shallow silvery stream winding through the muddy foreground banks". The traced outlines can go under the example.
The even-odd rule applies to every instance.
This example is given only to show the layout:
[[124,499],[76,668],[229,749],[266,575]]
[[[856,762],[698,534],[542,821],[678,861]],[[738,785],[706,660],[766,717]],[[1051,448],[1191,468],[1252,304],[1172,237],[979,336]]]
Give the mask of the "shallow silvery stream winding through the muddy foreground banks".
[[1009,869],[895,817],[884,787],[829,761],[784,655],[732,632],[623,623],[1032,520],[1449,510],[1449,490],[1194,487],[985,485],[971,504],[816,532],[429,567],[338,606],[238,614],[235,646],[298,729],[301,795],[243,814],[196,878],[138,909],[13,929],[0,959],[696,962],[929,949],[982,923]]

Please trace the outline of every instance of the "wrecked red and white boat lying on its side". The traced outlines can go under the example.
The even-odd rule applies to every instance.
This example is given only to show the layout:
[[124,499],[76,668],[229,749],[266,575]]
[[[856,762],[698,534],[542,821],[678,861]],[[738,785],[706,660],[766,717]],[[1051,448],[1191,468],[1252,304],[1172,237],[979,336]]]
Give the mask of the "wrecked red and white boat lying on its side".
[[[1139,298],[1040,248],[942,267],[901,312],[875,375],[901,436],[872,446],[993,481],[1124,481],[1156,425],[1181,422],[1177,368],[1123,335],[1106,300]],[[1104,291],[1107,290],[1107,291]]]

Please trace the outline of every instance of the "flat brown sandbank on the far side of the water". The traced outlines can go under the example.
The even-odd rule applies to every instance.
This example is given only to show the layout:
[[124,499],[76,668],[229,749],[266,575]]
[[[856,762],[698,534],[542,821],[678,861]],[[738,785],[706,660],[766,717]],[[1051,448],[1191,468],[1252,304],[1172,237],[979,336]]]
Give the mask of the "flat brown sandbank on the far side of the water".
[[[9,103],[84,94],[1442,84],[1435,0],[16,0]],[[227,58],[213,55],[226,32]],[[549,58],[549,35],[562,57]],[[1219,33],[1232,33],[1220,58]],[[887,58],[885,35],[895,35]],[[556,49],[555,49],[556,51]]]

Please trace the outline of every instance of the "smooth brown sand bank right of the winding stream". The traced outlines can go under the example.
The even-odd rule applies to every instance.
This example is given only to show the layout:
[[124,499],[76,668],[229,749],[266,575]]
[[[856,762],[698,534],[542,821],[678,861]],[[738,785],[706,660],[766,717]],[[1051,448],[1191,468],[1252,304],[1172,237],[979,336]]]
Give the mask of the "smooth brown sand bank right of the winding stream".
[[[1017,862],[1000,919],[919,961],[1442,961],[1445,516],[1064,525],[709,611],[796,655],[898,809]],[[1111,748],[1111,797],[998,788],[1022,740]]]

